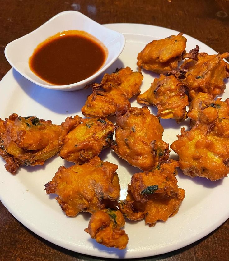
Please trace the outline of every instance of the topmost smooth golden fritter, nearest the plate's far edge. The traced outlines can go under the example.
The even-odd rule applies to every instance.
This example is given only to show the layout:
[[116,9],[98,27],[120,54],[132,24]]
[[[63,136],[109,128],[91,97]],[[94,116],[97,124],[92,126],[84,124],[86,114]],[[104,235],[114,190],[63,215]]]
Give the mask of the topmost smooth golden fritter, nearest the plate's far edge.
[[167,73],[178,67],[185,51],[187,39],[178,35],[171,35],[165,39],[153,40],[138,53],[138,68],[150,70],[156,73]]

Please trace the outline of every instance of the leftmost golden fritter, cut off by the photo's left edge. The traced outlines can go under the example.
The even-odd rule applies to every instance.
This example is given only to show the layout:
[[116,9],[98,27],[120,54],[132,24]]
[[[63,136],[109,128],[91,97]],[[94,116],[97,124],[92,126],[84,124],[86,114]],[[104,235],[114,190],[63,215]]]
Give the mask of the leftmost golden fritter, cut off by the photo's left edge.
[[21,117],[16,113],[0,119],[0,156],[5,168],[15,174],[20,165],[43,165],[60,151],[61,126],[35,116]]

